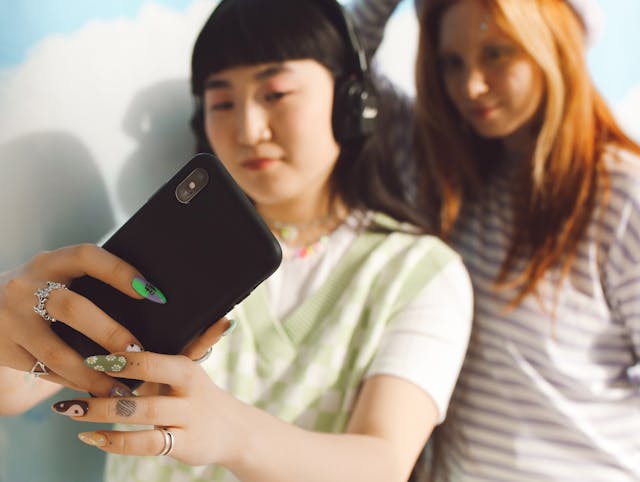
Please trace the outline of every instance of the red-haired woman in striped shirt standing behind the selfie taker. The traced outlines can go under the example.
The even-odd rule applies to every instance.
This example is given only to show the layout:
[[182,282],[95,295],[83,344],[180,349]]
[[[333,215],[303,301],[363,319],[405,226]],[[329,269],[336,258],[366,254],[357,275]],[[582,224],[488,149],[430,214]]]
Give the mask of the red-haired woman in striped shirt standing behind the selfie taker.
[[[356,8],[370,37],[393,3]],[[420,6],[417,195],[475,296],[447,480],[640,478],[640,148],[590,79],[593,8]]]

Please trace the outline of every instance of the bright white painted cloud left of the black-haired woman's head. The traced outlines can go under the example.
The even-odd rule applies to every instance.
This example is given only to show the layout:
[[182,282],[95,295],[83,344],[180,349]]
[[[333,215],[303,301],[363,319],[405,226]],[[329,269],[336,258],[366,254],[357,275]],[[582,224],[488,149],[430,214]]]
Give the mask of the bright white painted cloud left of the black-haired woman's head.
[[190,52],[214,4],[194,0],[179,12],[147,3],[135,19],[90,21],[40,41],[23,63],[0,70],[0,144],[32,132],[72,133],[113,185],[139,143],[132,137],[153,128],[153,112],[138,113],[137,127],[131,118],[125,125],[126,113],[137,96],[149,97],[164,81],[185,100],[174,112],[183,124],[176,140],[190,145]]

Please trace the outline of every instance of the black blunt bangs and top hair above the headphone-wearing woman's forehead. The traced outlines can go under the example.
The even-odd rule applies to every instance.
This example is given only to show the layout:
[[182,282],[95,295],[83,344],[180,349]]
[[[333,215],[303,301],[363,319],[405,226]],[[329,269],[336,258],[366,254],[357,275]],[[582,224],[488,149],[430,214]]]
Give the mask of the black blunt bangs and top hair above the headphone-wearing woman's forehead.
[[339,28],[319,0],[222,0],[193,48],[192,92],[201,96],[221,70],[267,62],[313,59],[340,77],[348,54]]

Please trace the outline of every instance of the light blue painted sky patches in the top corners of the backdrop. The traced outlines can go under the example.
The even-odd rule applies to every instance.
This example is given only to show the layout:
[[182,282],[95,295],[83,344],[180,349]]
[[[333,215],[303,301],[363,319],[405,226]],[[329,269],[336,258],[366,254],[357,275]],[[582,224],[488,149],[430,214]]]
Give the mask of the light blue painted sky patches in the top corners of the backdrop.
[[[133,19],[148,0],[0,0],[0,68],[20,64],[40,40],[71,33],[90,20]],[[177,11],[192,0],[154,0]],[[599,0],[604,30],[589,52],[596,84],[613,104],[640,85],[640,1]],[[405,0],[401,8],[413,8]]]

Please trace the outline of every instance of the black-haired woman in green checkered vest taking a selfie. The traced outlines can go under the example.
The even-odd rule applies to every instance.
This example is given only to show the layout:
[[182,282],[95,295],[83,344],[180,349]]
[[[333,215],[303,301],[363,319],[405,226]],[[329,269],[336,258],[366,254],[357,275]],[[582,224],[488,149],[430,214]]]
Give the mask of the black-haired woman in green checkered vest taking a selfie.
[[[253,200],[284,259],[232,323],[214,325],[229,328],[208,359],[126,351],[135,340],[117,332],[126,342],[112,350],[124,366],[117,375],[155,383],[136,397],[119,387],[107,398],[96,386],[97,397],[54,405],[79,422],[135,424],[80,435],[109,453],[107,481],[400,482],[444,419],[471,286],[460,258],[410,223],[388,182],[377,96],[347,18],[333,0],[224,0],[205,24],[193,53],[199,147]],[[0,313],[21,314],[2,320],[7,340],[25,325],[30,308],[15,306],[32,297],[30,280],[60,279],[64,256],[66,277],[73,267],[128,292],[135,268],[86,266],[114,261],[97,247],[75,253],[42,254],[2,278]],[[51,316],[66,295],[51,293]],[[65,321],[100,328],[83,314]],[[99,358],[91,367],[109,366]],[[22,383],[29,363],[0,361],[0,382]],[[79,378],[73,369],[65,379]]]

